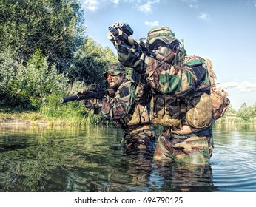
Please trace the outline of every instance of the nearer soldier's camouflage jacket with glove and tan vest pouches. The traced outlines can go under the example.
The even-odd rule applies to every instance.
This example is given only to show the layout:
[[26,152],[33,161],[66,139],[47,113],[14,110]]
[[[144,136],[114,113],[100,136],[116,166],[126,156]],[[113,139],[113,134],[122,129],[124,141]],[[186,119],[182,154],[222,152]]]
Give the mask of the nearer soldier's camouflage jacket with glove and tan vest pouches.
[[[154,90],[150,104],[153,123],[174,127],[189,125],[198,129],[211,126],[212,103],[207,95],[210,86],[207,67],[211,61],[186,56],[176,61],[179,64],[171,65],[144,54],[135,55],[122,46],[117,49],[121,64],[146,73],[146,81]],[[190,110],[192,108],[195,110]]]

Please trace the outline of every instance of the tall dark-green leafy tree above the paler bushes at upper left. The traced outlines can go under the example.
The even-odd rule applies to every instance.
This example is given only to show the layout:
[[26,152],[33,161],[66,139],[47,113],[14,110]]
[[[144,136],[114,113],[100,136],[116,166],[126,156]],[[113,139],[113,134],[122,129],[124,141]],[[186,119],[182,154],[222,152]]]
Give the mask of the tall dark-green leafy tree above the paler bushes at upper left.
[[27,64],[41,50],[58,72],[67,72],[84,39],[77,0],[0,0],[0,48]]

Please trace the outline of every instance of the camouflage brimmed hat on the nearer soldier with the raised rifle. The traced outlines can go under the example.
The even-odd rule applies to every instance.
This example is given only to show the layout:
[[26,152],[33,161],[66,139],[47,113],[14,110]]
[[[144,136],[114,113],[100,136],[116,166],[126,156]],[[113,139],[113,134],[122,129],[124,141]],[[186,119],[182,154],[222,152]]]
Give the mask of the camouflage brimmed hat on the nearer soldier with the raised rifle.
[[175,33],[172,33],[169,27],[161,26],[155,27],[147,33],[147,41],[149,44],[153,44],[156,40],[164,41],[165,44],[171,44],[172,41],[177,40],[177,38],[175,38]]

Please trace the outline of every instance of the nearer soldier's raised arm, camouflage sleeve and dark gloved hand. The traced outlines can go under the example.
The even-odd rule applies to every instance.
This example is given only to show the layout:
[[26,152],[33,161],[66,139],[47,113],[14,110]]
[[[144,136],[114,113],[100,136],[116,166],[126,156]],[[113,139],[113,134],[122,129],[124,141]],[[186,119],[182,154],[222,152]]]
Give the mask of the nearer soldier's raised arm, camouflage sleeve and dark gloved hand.
[[198,85],[208,80],[205,68],[196,71],[187,66],[171,66],[160,63],[142,52],[134,52],[132,47],[121,41],[114,45],[118,50],[118,60],[124,66],[132,67],[138,72],[146,70],[146,81],[158,92],[183,95],[197,89]]

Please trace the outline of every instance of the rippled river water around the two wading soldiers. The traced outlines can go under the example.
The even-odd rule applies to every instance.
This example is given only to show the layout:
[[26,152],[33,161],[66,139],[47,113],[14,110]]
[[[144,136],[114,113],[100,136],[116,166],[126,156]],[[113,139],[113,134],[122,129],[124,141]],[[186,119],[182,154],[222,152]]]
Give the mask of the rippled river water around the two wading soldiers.
[[112,126],[0,126],[0,191],[256,192],[254,125],[214,127],[208,167],[152,160],[146,152],[109,149]]

